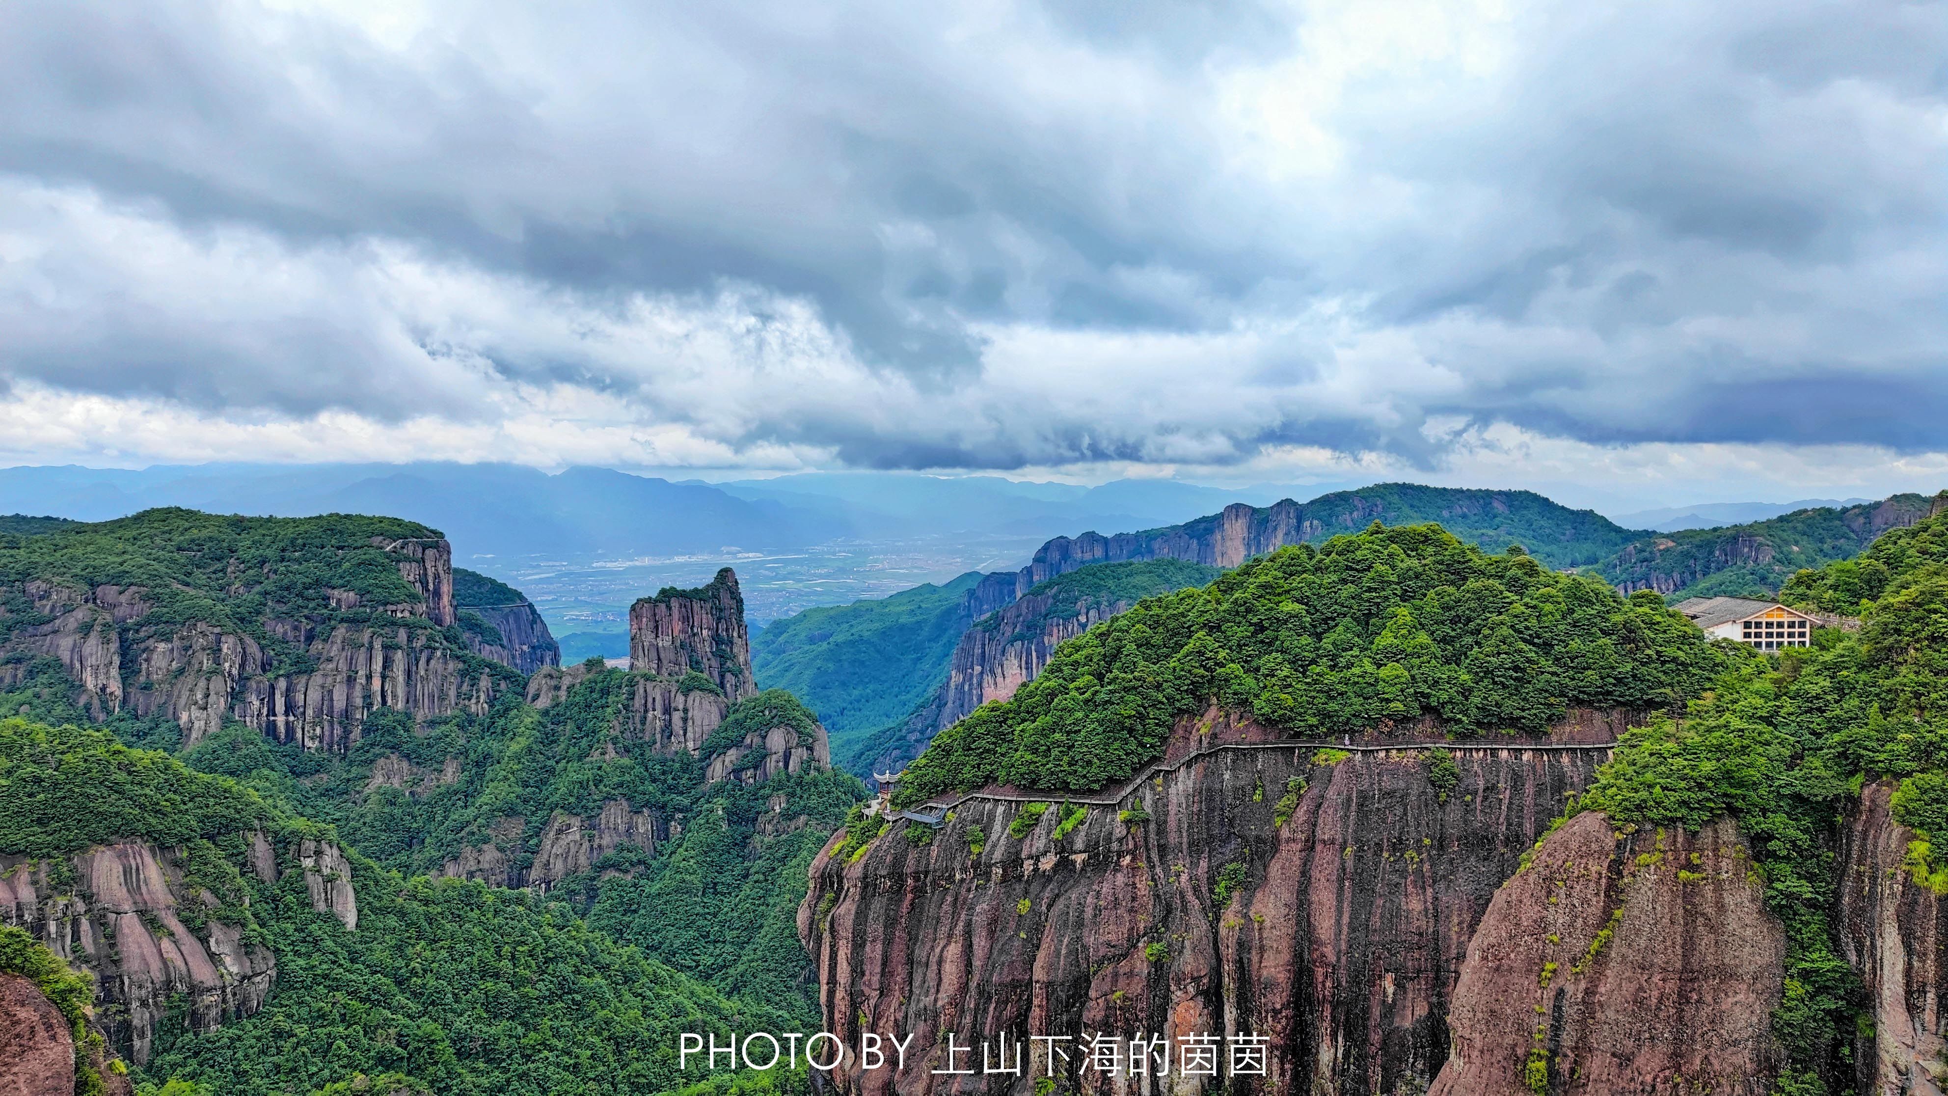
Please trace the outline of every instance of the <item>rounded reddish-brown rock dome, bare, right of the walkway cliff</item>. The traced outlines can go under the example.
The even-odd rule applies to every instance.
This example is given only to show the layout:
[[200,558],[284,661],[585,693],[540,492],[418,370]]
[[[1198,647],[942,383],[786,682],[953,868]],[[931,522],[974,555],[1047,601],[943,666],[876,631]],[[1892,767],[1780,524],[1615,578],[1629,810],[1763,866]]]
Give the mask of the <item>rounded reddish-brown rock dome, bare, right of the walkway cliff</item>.
[[1475,930],[1430,1096],[1765,1096],[1784,958],[1736,823],[1625,835],[1578,815]]

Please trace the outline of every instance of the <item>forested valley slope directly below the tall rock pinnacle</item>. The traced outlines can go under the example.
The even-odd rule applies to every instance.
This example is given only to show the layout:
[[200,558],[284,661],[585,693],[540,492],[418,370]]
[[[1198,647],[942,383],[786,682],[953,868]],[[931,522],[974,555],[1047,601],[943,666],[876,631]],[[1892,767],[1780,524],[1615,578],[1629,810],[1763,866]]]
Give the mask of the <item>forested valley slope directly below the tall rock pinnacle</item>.
[[[339,837],[378,866],[405,876],[438,874],[479,846],[506,850],[510,872],[520,874],[553,819],[594,819],[612,802],[686,819],[684,833],[655,854],[623,844],[584,870],[549,878],[549,893],[584,911],[596,905],[604,926],[686,973],[725,989],[762,985],[764,1000],[805,1020],[814,1008],[799,981],[803,954],[779,956],[762,971],[732,967],[744,942],[779,932],[795,938],[791,920],[805,893],[803,868],[863,788],[843,772],[779,774],[758,786],[709,784],[709,763],[748,729],[744,712],[762,712],[766,727],[793,718],[793,712],[781,716],[781,706],[805,724],[810,712],[785,692],[760,694],[730,708],[721,733],[695,755],[658,753],[621,729],[639,679],[596,669],[547,710],[510,698],[485,718],[458,714],[417,731],[403,714],[388,712],[368,720],[364,737],[345,757],[308,753],[232,725],[199,743],[185,761],[333,823]],[[423,776],[409,788],[374,784],[374,772],[386,766]],[[454,780],[444,782],[444,772],[454,772]],[[760,837],[773,796],[783,796],[791,817],[803,815],[810,825]],[[606,874],[621,878],[602,881]]]

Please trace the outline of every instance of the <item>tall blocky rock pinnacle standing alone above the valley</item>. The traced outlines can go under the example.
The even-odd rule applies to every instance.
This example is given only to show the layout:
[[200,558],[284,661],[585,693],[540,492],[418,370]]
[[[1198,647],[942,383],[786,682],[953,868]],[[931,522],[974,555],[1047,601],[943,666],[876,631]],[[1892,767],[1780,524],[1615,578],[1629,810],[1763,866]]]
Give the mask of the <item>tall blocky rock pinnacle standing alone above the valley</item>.
[[666,589],[629,607],[629,669],[680,679],[697,671],[730,700],[754,696],[750,632],[736,571],[699,589]]

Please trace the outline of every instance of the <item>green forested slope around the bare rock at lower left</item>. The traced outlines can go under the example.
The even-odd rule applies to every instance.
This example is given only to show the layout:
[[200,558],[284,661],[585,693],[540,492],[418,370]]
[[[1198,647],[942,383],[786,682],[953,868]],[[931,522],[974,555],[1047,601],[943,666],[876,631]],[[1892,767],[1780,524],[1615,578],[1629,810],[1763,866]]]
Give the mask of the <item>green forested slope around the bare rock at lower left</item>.
[[[791,1024],[680,975],[561,901],[407,880],[349,852],[358,928],[318,913],[302,872],[265,883],[247,835],[333,839],[275,794],[131,751],[105,731],[0,722],[0,852],[56,858],[105,841],[177,844],[230,920],[277,954],[253,1016],[158,1032],[148,1076],[222,1094],[312,1092],[403,1073],[436,1092],[668,1092],[676,1032]],[[764,1078],[746,1076],[762,1092]]]

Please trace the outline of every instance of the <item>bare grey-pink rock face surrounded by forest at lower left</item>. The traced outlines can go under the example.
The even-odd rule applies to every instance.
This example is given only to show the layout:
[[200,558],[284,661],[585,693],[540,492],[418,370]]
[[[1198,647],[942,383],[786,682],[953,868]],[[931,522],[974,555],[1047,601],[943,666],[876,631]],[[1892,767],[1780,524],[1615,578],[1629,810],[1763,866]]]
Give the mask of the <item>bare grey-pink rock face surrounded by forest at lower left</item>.
[[[275,881],[304,872],[312,907],[356,924],[343,852],[304,841],[281,866],[263,835],[251,872]],[[49,952],[95,977],[95,1020],[109,1043],[142,1065],[171,998],[193,1030],[210,1030],[263,1006],[277,959],[238,924],[208,917],[216,895],[185,881],[177,850],[146,842],[92,848],[60,862],[0,856],[0,922],[31,932]],[[191,928],[195,924],[195,928]],[[70,1057],[72,1061],[72,1057]]]

